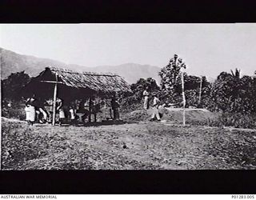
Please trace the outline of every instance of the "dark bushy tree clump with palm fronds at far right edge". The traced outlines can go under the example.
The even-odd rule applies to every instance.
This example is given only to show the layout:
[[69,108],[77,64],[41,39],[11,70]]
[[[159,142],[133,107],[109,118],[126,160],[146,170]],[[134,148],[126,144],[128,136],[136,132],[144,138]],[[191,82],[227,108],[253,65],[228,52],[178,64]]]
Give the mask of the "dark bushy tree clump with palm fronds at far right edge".
[[231,74],[222,72],[209,87],[207,106],[210,110],[232,113],[255,113],[256,80],[250,76],[240,78],[240,70]]

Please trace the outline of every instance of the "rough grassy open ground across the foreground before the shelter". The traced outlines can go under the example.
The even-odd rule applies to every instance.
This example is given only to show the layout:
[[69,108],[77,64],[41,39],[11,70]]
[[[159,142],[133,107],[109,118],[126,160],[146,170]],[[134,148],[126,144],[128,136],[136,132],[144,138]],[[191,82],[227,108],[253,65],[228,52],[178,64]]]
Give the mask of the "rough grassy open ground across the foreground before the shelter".
[[148,122],[141,115],[126,116],[137,122],[89,127],[2,118],[2,169],[256,169],[256,130]]

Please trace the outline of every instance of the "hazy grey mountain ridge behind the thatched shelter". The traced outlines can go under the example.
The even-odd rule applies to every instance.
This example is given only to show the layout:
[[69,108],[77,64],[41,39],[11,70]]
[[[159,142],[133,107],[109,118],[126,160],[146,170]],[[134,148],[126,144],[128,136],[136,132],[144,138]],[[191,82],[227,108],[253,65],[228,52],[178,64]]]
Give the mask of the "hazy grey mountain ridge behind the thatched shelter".
[[137,82],[139,78],[154,78],[160,82],[157,66],[140,65],[126,63],[119,66],[78,66],[75,64],[67,65],[47,58],[37,58],[30,55],[16,54],[13,51],[5,50],[0,47],[1,79],[7,78],[11,73],[25,70],[30,76],[36,76],[45,69],[46,66],[56,66],[68,68],[70,70],[91,71],[91,72],[110,72],[125,78],[129,83]]

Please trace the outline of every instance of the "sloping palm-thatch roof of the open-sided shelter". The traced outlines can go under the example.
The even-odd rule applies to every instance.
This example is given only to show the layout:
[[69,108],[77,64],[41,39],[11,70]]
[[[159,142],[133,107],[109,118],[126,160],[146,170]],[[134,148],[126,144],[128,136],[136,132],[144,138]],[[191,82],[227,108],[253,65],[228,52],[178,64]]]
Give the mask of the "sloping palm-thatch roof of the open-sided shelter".
[[36,78],[40,81],[58,81],[72,88],[90,89],[102,93],[131,91],[130,85],[117,74],[77,72],[48,66]]

